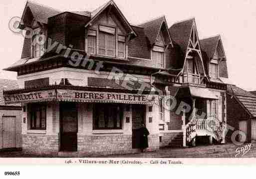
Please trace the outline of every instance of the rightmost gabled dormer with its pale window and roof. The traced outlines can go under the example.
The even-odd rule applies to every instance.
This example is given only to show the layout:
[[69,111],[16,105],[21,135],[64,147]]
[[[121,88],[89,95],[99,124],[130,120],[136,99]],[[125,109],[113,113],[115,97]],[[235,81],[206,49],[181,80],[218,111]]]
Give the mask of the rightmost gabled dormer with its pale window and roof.
[[[213,36],[200,40],[202,50],[206,53],[205,63],[210,79],[219,79],[223,73],[223,63],[226,64],[226,56],[221,36]],[[221,75],[222,76],[222,75]]]

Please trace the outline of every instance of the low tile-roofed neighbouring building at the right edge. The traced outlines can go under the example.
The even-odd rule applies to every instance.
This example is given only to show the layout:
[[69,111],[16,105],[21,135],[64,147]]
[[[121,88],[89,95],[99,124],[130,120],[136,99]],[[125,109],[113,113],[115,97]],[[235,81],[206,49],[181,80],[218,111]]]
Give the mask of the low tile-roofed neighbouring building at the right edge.
[[[227,89],[227,123],[230,125],[227,140],[252,142],[256,140],[256,95],[235,85]],[[245,135],[234,131],[239,130]],[[233,134],[233,137],[232,137]],[[239,138],[240,136],[240,138]]]

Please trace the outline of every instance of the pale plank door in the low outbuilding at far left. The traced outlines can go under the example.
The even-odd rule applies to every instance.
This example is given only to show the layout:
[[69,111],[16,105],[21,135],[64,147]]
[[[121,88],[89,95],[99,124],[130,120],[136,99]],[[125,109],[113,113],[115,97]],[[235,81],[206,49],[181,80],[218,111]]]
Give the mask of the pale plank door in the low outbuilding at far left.
[[16,117],[2,116],[3,122],[3,148],[16,147]]

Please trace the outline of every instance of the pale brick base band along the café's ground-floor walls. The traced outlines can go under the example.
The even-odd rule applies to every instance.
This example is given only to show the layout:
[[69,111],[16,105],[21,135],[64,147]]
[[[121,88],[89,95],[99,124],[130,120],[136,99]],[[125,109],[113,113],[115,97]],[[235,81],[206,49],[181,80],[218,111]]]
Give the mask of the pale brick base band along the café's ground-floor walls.
[[[159,135],[148,136],[149,148],[159,150]],[[25,154],[58,156],[59,137],[42,135],[22,135],[22,148]],[[77,157],[133,154],[132,135],[77,136]]]

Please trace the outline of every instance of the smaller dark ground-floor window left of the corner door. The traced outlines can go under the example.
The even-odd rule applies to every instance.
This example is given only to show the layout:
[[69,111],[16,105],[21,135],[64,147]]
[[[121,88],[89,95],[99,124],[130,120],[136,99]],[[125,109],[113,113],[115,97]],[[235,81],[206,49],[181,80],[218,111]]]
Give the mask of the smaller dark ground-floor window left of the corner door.
[[46,130],[46,105],[29,105],[30,129]]

